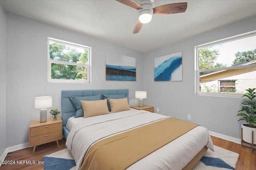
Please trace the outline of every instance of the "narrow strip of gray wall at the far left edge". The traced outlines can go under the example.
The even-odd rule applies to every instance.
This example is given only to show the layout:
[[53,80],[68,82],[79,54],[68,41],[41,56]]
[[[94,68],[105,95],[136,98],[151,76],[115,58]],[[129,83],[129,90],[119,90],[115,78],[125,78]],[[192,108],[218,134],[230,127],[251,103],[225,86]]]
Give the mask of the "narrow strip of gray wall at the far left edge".
[[0,155],[6,148],[6,11],[0,1]]

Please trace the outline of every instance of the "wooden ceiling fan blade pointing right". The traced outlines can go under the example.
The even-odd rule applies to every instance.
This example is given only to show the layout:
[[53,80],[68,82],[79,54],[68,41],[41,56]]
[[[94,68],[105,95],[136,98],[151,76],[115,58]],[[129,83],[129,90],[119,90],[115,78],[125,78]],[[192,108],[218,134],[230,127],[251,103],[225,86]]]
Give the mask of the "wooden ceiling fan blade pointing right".
[[165,4],[153,8],[153,14],[176,14],[185,12],[187,9],[187,2]]

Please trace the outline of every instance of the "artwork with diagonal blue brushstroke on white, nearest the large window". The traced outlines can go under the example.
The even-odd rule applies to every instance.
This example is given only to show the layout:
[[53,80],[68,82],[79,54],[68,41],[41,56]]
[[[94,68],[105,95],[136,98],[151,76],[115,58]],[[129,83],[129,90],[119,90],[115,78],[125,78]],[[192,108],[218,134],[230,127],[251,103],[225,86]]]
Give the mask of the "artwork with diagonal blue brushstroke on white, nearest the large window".
[[182,81],[182,51],[154,58],[154,81]]

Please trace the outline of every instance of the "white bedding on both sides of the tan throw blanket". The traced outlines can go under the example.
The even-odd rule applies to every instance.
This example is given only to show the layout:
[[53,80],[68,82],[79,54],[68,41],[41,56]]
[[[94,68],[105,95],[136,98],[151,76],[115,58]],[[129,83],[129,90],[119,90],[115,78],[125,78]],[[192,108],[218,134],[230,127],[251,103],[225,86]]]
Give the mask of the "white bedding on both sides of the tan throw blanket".
[[[165,118],[168,116],[136,109],[88,118],[71,117],[67,122],[70,133],[66,146],[71,150],[76,169],[79,169],[86,150],[96,141]],[[214,150],[208,130],[198,126],[127,170],[181,170],[204,146]]]

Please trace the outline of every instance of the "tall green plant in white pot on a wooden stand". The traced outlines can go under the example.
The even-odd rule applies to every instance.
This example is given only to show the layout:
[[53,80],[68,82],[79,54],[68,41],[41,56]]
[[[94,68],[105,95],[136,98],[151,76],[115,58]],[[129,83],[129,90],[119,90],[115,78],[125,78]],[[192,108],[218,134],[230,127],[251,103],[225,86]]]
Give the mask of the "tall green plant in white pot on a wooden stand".
[[248,124],[242,124],[241,144],[247,143],[253,146],[256,145],[256,88],[246,89],[242,97],[246,99],[242,100],[242,109],[238,111],[238,116],[243,116],[240,120],[245,120]]

